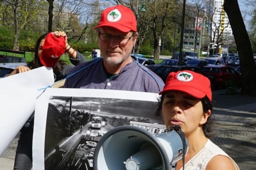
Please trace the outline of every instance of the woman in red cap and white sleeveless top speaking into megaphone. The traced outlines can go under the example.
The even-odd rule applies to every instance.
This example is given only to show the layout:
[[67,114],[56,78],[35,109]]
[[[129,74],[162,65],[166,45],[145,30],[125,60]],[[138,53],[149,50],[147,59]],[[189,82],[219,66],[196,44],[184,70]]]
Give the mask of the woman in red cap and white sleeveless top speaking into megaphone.
[[[239,170],[234,160],[211,142],[212,92],[207,77],[193,71],[169,74],[159,93],[157,116],[163,114],[166,127],[180,126],[188,139],[185,170]],[[176,170],[182,170],[182,160]]]

